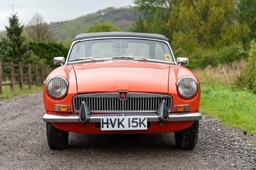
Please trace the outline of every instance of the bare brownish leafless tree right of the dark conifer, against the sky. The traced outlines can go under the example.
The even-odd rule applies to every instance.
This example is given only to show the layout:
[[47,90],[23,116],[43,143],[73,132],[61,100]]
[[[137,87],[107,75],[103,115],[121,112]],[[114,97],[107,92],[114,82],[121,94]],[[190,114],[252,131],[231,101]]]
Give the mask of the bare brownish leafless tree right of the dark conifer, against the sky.
[[26,27],[25,31],[29,38],[36,42],[53,40],[49,26],[45,23],[44,18],[40,13],[36,13],[29,21],[29,25]]

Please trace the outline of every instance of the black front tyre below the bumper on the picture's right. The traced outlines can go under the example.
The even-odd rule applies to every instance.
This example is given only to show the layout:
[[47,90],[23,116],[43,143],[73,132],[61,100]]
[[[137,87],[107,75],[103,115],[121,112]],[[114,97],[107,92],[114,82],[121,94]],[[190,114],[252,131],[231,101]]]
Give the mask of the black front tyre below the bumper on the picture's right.
[[191,127],[175,132],[175,143],[180,150],[193,150],[198,137],[199,120],[194,121]]

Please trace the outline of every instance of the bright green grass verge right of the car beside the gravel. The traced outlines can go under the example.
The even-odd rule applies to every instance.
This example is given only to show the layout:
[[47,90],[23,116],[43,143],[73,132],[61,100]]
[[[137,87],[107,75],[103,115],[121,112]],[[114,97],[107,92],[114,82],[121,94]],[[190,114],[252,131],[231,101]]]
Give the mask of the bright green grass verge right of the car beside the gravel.
[[230,127],[256,134],[256,95],[238,88],[202,84],[200,112],[218,117]]

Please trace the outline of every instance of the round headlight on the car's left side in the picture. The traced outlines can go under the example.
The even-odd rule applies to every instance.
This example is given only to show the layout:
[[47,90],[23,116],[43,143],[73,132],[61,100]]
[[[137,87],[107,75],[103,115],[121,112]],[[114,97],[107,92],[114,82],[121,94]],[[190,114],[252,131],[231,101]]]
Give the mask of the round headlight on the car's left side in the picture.
[[60,76],[52,77],[46,83],[46,91],[52,98],[62,98],[67,94],[68,82]]

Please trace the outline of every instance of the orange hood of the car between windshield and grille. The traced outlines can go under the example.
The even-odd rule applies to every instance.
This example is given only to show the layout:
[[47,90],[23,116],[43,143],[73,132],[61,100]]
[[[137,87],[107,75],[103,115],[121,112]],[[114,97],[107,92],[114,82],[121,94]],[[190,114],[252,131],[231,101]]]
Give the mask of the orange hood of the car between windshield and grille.
[[104,61],[73,66],[76,72],[77,93],[168,93],[170,65],[138,61]]

